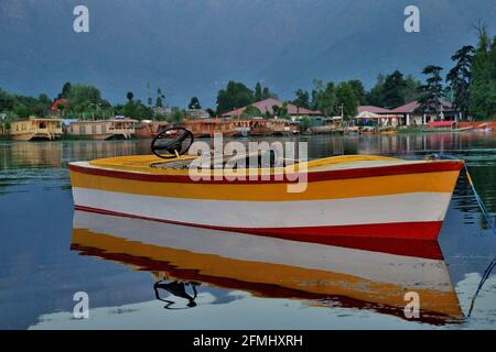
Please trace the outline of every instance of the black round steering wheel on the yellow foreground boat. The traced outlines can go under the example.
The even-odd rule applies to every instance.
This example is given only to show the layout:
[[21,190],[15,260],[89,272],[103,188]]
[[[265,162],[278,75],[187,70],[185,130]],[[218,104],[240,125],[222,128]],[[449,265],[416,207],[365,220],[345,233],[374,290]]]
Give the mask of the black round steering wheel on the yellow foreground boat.
[[185,128],[168,128],[161,131],[152,141],[153,154],[161,158],[174,158],[187,152],[194,136]]

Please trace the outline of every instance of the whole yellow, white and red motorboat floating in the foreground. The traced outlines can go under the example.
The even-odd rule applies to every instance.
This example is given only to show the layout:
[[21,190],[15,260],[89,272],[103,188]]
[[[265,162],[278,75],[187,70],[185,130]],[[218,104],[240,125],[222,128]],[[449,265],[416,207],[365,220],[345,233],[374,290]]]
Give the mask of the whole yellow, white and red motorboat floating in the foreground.
[[[157,152],[159,135],[154,155],[69,163],[75,208],[292,240],[435,240],[463,167],[459,160],[344,155],[271,157],[270,167],[229,169],[233,158],[207,157],[212,164],[200,174],[190,169],[198,156],[184,155],[182,144],[175,150],[184,139],[160,147],[169,158]],[[254,165],[262,154],[237,161]]]

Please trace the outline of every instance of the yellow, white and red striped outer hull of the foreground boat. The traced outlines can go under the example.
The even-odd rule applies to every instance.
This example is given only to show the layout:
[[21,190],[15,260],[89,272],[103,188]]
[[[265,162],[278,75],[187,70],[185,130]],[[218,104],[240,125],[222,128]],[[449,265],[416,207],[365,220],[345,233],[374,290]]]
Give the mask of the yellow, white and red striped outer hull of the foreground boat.
[[435,240],[461,162],[310,173],[285,182],[192,182],[187,176],[69,165],[76,209],[298,241],[333,237]]

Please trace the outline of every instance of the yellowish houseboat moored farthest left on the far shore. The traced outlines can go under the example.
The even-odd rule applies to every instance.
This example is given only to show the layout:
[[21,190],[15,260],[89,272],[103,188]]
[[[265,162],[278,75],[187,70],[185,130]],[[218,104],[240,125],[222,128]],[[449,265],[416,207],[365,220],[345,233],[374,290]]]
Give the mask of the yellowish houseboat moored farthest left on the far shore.
[[51,141],[62,135],[62,120],[33,117],[14,121],[10,125],[10,135],[14,141]]

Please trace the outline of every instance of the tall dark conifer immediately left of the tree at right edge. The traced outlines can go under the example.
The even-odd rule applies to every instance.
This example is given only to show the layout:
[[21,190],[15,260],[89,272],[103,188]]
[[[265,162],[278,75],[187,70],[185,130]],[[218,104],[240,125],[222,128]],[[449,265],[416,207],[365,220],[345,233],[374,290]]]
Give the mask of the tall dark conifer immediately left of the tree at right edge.
[[463,117],[468,114],[474,51],[472,45],[465,45],[459,50],[451,57],[455,66],[446,75],[446,82],[450,84],[449,91],[453,94],[453,105]]

